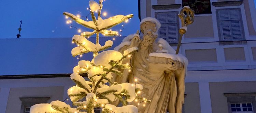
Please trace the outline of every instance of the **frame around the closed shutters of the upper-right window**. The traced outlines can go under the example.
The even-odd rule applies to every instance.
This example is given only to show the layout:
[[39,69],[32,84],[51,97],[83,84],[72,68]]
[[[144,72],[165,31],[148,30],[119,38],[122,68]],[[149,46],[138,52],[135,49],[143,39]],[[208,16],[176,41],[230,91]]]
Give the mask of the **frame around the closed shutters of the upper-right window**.
[[[231,39],[230,40],[224,40],[224,38],[223,38],[223,31],[221,31],[221,21],[220,21],[220,19],[219,19],[219,14],[218,14],[218,12],[219,11],[222,11],[222,10],[238,10],[239,11],[239,17],[240,17],[240,28],[241,28],[241,36],[242,36],[242,38],[241,39],[237,39],[237,40],[234,40],[234,39],[232,39],[232,35],[230,35],[230,37],[231,37]],[[243,41],[243,40],[246,40],[245,39],[245,33],[244,33],[244,25],[243,25],[243,19],[242,19],[242,12],[241,12],[241,8],[219,8],[219,9],[216,9],[216,21],[217,21],[217,27],[218,27],[218,36],[219,36],[219,41]],[[227,20],[227,21],[232,21],[232,20]],[[231,32],[230,32],[230,34],[231,34]]]

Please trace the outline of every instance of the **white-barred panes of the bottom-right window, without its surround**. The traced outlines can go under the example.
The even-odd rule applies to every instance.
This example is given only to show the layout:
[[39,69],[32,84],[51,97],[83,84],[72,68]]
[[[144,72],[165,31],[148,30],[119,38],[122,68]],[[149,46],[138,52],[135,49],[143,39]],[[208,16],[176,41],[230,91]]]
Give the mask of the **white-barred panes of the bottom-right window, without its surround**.
[[238,112],[238,111],[246,111],[246,113],[253,113],[252,103],[231,103],[231,111]]

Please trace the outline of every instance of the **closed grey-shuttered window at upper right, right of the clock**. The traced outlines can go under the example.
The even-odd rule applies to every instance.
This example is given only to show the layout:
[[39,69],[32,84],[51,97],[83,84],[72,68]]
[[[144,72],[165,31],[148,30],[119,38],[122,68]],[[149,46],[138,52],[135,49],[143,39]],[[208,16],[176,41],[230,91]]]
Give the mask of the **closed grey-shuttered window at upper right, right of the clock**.
[[244,40],[240,8],[217,9],[220,41]]

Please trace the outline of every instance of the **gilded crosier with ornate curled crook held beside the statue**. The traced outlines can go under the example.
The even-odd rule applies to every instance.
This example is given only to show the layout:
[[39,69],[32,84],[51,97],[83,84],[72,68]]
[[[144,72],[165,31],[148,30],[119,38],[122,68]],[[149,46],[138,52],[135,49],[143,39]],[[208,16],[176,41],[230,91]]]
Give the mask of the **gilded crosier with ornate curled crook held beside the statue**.
[[[184,14],[184,12],[186,12],[186,15]],[[195,15],[195,12],[193,10],[191,10],[191,8],[188,6],[184,6],[182,8],[180,14],[178,14],[178,16],[181,19],[182,27],[179,30],[180,38],[179,38],[179,43],[177,45],[176,54],[179,54],[182,36],[186,33],[187,25],[194,22],[194,19],[195,19],[194,15]]]

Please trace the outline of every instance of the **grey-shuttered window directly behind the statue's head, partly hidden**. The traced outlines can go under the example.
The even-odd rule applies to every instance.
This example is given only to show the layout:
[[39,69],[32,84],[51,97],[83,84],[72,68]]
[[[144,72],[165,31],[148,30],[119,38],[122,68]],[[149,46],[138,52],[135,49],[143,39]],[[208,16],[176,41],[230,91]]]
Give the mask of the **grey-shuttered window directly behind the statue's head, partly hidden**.
[[159,37],[168,43],[178,42],[179,17],[178,12],[157,12],[156,19],[161,23]]

